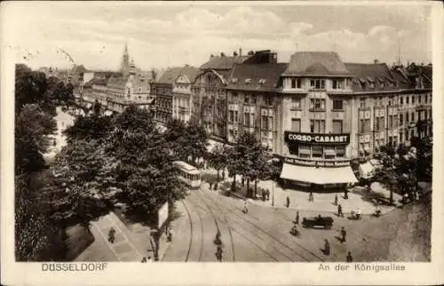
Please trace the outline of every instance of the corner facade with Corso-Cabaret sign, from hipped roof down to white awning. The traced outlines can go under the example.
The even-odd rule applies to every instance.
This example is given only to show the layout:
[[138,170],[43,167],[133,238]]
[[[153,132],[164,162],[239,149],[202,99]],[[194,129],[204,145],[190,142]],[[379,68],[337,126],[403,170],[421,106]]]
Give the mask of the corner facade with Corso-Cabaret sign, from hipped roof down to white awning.
[[335,52],[296,52],[281,79],[283,182],[310,188],[355,183],[353,75]]

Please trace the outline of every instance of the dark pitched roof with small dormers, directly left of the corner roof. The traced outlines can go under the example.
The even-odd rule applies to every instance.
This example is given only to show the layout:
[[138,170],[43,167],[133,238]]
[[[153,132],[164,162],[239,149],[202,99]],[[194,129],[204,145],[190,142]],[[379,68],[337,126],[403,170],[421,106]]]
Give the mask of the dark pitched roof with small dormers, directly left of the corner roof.
[[288,67],[286,63],[239,64],[234,65],[228,80],[228,89],[250,91],[274,91],[281,74]]

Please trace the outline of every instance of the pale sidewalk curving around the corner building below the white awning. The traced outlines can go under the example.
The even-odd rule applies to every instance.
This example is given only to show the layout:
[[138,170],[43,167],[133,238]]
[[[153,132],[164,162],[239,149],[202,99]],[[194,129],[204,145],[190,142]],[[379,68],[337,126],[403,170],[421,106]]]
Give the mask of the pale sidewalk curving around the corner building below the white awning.
[[[206,170],[207,172],[215,172]],[[233,178],[226,178],[225,181],[233,182]],[[241,184],[241,176],[236,176],[236,182]],[[207,183],[203,183],[206,184]],[[246,184],[246,183],[245,183]],[[375,184],[374,184],[375,185]],[[254,184],[250,183],[250,187],[254,188]],[[276,182],[272,180],[259,181],[258,187],[267,188],[270,190],[270,198],[268,201],[262,201],[262,194],[258,194],[260,199],[250,200],[251,203],[260,207],[268,207],[274,209],[287,209],[294,211],[321,211],[321,212],[337,212],[337,205],[335,205],[335,195],[337,195],[337,202],[341,204],[344,213],[361,209],[363,215],[372,214],[376,210],[375,197],[388,197],[388,191],[384,191],[381,187],[372,185],[372,191],[364,188],[355,187],[348,192],[348,199],[344,199],[344,192],[342,193],[313,193],[313,202],[308,202],[309,193],[305,190],[297,189],[282,189]],[[238,190],[232,193],[241,199],[245,199],[245,194]],[[287,196],[289,197],[289,208],[287,208]],[[273,200],[274,197],[274,200]],[[393,194],[393,201],[396,203],[401,197],[398,194]],[[274,205],[273,205],[274,201]],[[381,212],[387,213],[392,211],[394,206],[380,205]]]

